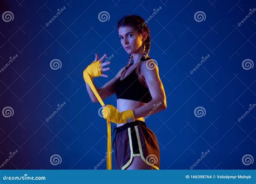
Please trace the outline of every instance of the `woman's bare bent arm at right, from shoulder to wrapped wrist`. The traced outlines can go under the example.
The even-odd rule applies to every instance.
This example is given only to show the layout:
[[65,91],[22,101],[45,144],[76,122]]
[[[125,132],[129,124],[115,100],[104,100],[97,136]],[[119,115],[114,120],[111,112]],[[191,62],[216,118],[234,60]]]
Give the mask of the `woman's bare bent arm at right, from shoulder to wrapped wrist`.
[[[153,61],[151,60],[149,62]],[[149,87],[150,94],[152,96],[152,100],[142,107],[133,109],[135,118],[145,117],[149,114],[155,114],[167,108],[165,90],[159,77],[159,69],[156,63],[153,62],[153,64],[155,66],[153,69],[147,68],[147,66],[150,65],[150,63],[147,62],[143,62],[140,66],[140,73],[145,78],[147,87]]]

